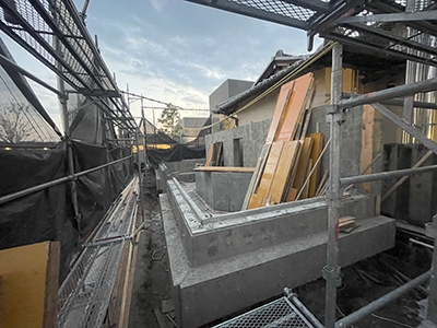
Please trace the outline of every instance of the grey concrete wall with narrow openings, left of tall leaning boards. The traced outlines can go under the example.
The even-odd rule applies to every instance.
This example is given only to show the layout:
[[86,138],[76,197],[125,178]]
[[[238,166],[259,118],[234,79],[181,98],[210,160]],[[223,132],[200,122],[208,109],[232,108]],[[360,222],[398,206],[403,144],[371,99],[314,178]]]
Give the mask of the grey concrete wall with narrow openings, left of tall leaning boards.
[[234,156],[234,140],[241,139],[243,166],[255,167],[259,153],[265,143],[270,128],[270,119],[241,126],[235,129],[220,131],[206,136],[206,149],[215,142],[223,142],[224,166],[240,166]]

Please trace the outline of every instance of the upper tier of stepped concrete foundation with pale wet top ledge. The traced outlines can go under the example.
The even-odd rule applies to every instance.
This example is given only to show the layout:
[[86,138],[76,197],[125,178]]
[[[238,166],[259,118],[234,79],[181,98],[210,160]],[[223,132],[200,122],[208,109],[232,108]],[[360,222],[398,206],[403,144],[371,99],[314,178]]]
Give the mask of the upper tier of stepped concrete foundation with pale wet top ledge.
[[[173,181],[168,196],[187,256],[193,266],[241,255],[327,230],[328,209],[322,198],[214,215],[198,220],[197,212]],[[344,202],[341,215],[373,216],[374,199],[356,196]]]

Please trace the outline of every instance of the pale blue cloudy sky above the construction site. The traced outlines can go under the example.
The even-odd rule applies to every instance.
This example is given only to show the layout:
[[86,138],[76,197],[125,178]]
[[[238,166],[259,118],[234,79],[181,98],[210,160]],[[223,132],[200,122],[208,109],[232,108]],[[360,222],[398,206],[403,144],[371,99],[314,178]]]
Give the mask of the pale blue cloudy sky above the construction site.
[[[74,0],[79,11],[84,0]],[[255,81],[274,54],[307,54],[306,33],[184,0],[91,0],[90,34],[120,90],[182,108],[184,116],[209,114],[209,95],[226,79]],[[2,34],[19,65],[56,86],[55,74]],[[57,96],[35,85],[54,120],[61,125]],[[143,102],[155,122],[162,104]],[[132,102],[140,116],[140,101]],[[202,110],[206,109],[206,110]]]

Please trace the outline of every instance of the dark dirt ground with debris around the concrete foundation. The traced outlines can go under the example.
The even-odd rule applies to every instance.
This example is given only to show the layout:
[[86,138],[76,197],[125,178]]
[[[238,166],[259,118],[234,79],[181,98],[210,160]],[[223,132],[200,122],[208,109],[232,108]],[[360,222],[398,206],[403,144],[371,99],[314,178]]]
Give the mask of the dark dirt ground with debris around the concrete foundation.
[[[151,222],[150,225],[146,224],[137,246],[138,258],[132,286],[129,328],[176,327],[170,300],[169,266],[161,220],[162,209],[156,192],[153,190],[145,192],[143,203],[145,219],[151,220]],[[427,265],[424,265],[428,261],[426,250],[421,253],[423,261],[418,266],[411,263],[411,261],[409,263],[404,261],[404,258],[400,259],[393,254],[393,251],[388,251],[342,268],[342,284],[338,289],[338,318],[394,290],[405,283],[409,278],[423,273],[427,267]],[[417,258],[415,260],[417,261]],[[299,270],[299,268],[296,268],[296,270]],[[323,279],[318,279],[293,290],[321,323],[324,319],[324,283]],[[417,327],[421,323],[417,302],[425,297],[426,286],[421,286],[351,327]],[[267,300],[265,303],[269,301],[272,300]],[[256,306],[259,305],[261,304]],[[241,314],[249,309],[251,308],[241,311]],[[212,327],[231,317],[221,318],[204,327]]]

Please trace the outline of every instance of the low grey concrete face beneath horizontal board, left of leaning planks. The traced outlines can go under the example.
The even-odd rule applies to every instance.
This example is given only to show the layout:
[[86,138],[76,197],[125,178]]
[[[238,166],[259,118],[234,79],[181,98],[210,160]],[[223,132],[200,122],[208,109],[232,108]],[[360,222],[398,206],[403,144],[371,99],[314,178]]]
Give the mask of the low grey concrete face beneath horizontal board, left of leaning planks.
[[236,212],[241,209],[251,172],[196,172],[196,190],[214,210]]

